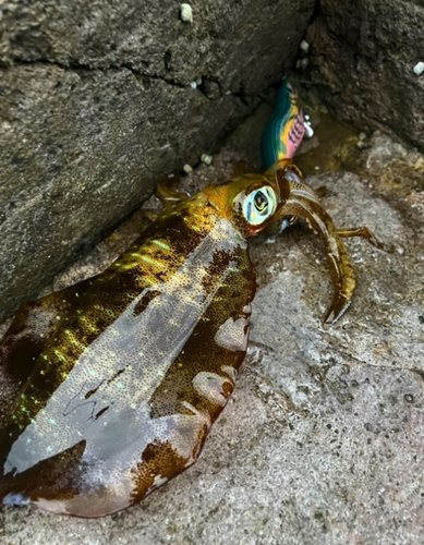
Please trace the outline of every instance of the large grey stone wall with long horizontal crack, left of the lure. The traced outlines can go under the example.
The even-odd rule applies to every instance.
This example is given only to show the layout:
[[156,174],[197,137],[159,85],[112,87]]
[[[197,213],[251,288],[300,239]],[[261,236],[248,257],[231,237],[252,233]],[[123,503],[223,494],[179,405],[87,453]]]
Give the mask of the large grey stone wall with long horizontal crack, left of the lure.
[[258,105],[313,4],[0,1],[0,318]]

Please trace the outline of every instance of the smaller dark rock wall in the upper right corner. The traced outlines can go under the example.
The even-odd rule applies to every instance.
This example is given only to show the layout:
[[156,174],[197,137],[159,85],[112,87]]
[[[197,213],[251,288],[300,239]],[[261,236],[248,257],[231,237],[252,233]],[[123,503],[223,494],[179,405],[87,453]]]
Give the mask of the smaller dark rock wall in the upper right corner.
[[322,0],[307,32],[312,80],[340,120],[424,147],[422,0]]

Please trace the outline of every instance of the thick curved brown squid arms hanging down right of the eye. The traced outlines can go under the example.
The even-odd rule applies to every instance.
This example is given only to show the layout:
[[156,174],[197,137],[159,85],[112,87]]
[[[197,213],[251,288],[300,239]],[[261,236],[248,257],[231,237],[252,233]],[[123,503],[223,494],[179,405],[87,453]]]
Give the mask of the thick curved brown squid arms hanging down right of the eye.
[[[334,298],[329,305],[324,324],[335,324],[348,310],[355,288],[353,268],[346,246],[337,233],[337,229],[319,202],[318,196],[303,180],[290,180],[282,173],[277,173],[277,183],[281,194],[281,205],[274,219],[296,218],[306,219],[310,228],[324,241],[330,266],[334,284]],[[282,220],[283,222],[283,220]]]

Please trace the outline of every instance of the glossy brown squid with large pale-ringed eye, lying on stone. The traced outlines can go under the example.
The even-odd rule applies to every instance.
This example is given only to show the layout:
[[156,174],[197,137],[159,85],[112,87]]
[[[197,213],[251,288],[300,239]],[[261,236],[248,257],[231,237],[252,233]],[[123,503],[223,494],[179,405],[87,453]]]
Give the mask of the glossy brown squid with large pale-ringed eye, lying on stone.
[[337,230],[277,160],[193,197],[162,187],[157,221],[106,271],[17,313],[0,344],[0,501],[101,517],[195,462],[246,352],[247,239],[271,222],[303,216],[320,233],[335,284],[325,320],[341,316],[354,289],[341,239],[379,243]]

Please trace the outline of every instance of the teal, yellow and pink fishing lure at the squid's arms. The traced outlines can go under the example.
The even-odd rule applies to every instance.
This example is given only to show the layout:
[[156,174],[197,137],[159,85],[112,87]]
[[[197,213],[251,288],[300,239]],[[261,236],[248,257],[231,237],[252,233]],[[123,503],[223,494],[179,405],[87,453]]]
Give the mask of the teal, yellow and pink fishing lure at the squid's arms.
[[283,159],[292,159],[305,133],[304,116],[298,93],[284,80],[277,102],[261,140],[262,162],[265,170]]

